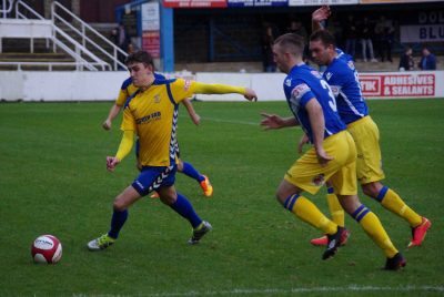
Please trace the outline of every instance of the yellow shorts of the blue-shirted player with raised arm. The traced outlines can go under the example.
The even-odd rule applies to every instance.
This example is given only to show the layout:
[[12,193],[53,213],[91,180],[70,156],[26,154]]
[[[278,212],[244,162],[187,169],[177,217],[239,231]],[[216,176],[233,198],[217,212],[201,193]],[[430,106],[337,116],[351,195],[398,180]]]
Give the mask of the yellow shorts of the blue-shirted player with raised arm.
[[356,144],[356,176],[361,184],[384,180],[380,148],[380,131],[372,117],[364,116],[347,125]]

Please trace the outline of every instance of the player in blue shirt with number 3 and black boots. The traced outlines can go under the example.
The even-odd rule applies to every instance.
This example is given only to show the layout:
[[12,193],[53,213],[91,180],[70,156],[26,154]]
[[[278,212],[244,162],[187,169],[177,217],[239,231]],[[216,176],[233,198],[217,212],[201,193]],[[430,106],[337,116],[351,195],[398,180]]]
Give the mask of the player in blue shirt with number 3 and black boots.
[[357,198],[356,148],[345,124],[337,115],[332,90],[321,74],[303,63],[304,41],[287,33],[278,38],[273,55],[279,69],[286,73],[284,92],[293,116],[281,117],[263,113],[261,125],[281,129],[301,125],[313,146],[286,172],[276,197],[282,205],[302,221],[327,234],[329,245],[322,258],[327,259],[337,252],[346,229],[327,217],[305,196],[315,194],[330,181],[344,209],[356,219],[365,233],[383,249],[385,269],[396,270],[405,260],[377,216]]

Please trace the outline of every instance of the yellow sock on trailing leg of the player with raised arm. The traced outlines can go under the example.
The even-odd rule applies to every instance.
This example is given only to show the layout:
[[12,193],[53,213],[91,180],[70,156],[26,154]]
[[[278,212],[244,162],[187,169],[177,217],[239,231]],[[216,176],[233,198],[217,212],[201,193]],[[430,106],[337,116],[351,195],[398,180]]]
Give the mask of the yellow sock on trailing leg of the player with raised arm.
[[416,214],[412,208],[410,208],[403,202],[400,195],[397,195],[396,192],[394,192],[393,190],[384,186],[381,190],[377,199],[381,202],[382,206],[407,221],[412,227],[421,225],[422,217]]

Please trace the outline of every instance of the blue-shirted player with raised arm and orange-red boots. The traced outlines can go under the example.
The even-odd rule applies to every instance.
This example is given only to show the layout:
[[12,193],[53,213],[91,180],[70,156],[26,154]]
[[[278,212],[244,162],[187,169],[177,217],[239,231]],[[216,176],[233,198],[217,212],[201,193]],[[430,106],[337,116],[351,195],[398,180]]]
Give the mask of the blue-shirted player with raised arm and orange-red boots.
[[[329,31],[321,29],[321,21],[325,20],[330,13],[329,7],[322,7],[313,12],[312,21],[315,31],[310,38],[310,50],[313,60],[317,64],[326,66],[323,78],[333,90],[337,112],[355,141],[357,180],[365,195],[376,199],[386,209],[410,224],[412,240],[408,247],[420,246],[432,223],[408,207],[395,191],[381,182],[385,176],[382,170],[380,132],[369,114],[353,60],[336,49],[334,37]],[[337,203],[337,197],[334,195],[333,188],[327,191],[332,218],[340,226],[344,226],[344,212]],[[325,236],[312,240],[314,245],[325,245],[326,243]]]

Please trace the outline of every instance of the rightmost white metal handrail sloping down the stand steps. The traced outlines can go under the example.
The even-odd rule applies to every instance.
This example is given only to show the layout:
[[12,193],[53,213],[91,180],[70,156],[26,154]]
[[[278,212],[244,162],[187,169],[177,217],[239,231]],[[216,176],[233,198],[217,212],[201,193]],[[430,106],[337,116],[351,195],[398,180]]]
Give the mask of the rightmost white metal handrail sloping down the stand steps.
[[[69,17],[71,17],[73,20],[75,20],[80,24],[80,30],[72,25],[72,22],[67,21],[61,17],[61,14],[58,13],[58,9],[67,13]],[[69,29],[71,29],[77,37],[81,39],[82,45],[88,49],[88,45],[91,45],[93,49],[100,51],[102,54],[104,54],[108,59],[110,59],[111,63],[113,64],[113,69],[118,70],[119,66],[125,68],[125,65],[119,61],[119,55],[127,57],[128,53],[124,52],[122,49],[113,44],[110,40],[108,40],[105,37],[103,37],[101,33],[99,33],[95,29],[93,29],[91,25],[85,23],[82,19],[77,17],[74,13],[72,13],[70,10],[68,10],[65,7],[60,4],[59,2],[54,1],[51,4],[51,19],[53,23],[56,24],[57,21],[63,23],[67,25]],[[105,51],[102,47],[100,47],[97,42],[94,42],[92,39],[88,37],[88,33],[94,35],[94,38],[99,39],[100,41],[104,42],[108,47],[112,49],[112,54],[110,54],[108,51]]]

